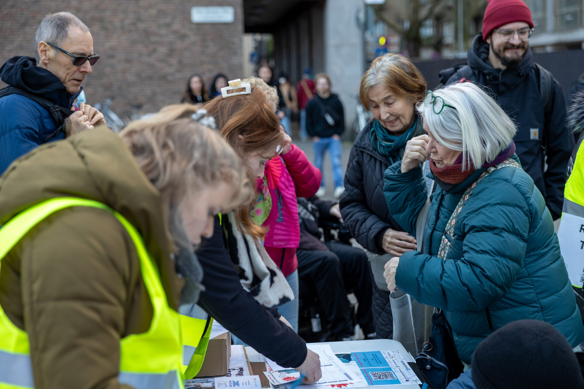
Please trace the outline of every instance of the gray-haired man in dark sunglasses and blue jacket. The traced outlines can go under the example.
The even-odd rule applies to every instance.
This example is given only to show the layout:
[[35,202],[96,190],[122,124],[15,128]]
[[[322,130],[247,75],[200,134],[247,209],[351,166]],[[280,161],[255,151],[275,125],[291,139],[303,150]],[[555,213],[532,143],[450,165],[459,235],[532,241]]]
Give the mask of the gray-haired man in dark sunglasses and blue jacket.
[[0,68],[0,174],[42,143],[105,125],[89,104],[72,103],[99,55],[89,28],[69,12],[47,15],[35,36],[35,58],[12,57]]

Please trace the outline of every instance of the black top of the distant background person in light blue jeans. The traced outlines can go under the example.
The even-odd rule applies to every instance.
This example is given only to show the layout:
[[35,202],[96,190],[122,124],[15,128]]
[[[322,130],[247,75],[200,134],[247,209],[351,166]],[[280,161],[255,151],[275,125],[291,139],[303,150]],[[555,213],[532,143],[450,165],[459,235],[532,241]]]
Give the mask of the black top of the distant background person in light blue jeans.
[[[335,125],[330,125],[325,119],[325,113],[331,115]],[[306,132],[310,136],[330,138],[340,135],[345,131],[345,112],[339,97],[331,93],[331,96],[323,99],[318,94],[306,104]]]

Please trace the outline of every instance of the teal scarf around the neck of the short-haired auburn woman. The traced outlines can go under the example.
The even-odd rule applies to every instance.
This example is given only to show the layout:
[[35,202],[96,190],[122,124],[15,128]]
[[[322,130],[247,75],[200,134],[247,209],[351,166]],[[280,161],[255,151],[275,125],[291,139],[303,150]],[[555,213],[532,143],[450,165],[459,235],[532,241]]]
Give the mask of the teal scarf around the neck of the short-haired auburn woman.
[[405,144],[414,136],[422,135],[423,132],[422,121],[417,116],[412,127],[402,135],[391,134],[379,121],[374,120],[371,131],[369,131],[369,138],[371,146],[381,155],[388,157],[391,164],[394,164],[404,156]]

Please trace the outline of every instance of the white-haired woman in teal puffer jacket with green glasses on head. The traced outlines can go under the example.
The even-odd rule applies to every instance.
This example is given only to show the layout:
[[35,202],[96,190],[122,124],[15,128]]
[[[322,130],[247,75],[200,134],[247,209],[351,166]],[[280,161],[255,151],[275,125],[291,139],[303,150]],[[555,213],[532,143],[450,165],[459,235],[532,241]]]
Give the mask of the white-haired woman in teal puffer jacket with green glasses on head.
[[519,319],[550,323],[577,346],[582,319],[550,211],[515,155],[513,121],[469,82],[426,92],[416,109],[427,135],[408,141],[404,158],[385,171],[387,206],[406,232],[415,234],[426,201],[420,163],[430,161],[438,187],[427,254],[392,258],[388,289],[442,309],[467,365],[479,342]]

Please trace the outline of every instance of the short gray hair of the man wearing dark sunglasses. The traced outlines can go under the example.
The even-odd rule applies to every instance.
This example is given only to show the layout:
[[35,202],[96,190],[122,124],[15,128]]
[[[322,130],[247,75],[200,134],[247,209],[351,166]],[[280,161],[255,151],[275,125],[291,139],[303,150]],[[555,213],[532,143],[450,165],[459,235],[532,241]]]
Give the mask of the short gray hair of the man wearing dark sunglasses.
[[[78,27],[85,33],[89,32],[89,27],[71,12],[49,13],[43,17],[36,34],[34,34],[34,58],[37,60],[37,65],[40,63],[39,43],[47,42],[61,46],[67,39],[69,27],[71,26]],[[53,50],[55,55],[58,54],[56,48],[53,48]]]

